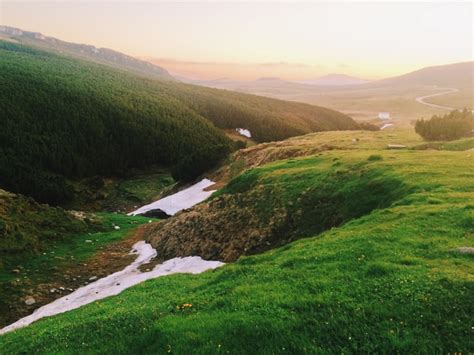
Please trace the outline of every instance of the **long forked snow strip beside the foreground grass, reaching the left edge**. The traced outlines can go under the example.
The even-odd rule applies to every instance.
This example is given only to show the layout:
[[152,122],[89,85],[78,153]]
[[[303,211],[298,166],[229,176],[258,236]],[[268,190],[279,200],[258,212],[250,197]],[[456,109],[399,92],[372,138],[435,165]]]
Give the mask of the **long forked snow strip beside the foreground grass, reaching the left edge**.
[[153,249],[150,244],[140,241],[133,245],[131,253],[136,254],[137,258],[122,271],[99,279],[94,283],[77,289],[67,296],[38,308],[29,316],[0,329],[0,334],[25,327],[41,318],[64,313],[94,301],[117,295],[129,287],[149,279],[176,273],[199,274],[203,271],[224,265],[224,263],[220,261],[207,261],[198,256],[188,256],[185,258],[167,260],[163,264],[155,266],[152,271],[142,273],[138,268],[150,262],[150,260],[156,256],[156,250]]

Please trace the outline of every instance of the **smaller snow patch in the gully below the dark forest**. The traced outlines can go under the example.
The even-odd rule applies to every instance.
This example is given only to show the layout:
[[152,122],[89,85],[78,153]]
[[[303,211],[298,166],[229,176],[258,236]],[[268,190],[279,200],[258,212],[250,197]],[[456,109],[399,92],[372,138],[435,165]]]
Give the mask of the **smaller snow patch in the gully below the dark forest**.
[[136,216],[150,210],[160,209],[163,212],[166,212],[166,214],[173,216],[177,212],[186,208],[191,208],[211,196],[215,190],[204,191],[204,189],[214,184],[214,181],[203,179],[197,184],[188,187],[187,189],[162,198],[161,200],[152,202],[148,205],[142,206],[139,209],[130,212],[128,215]]

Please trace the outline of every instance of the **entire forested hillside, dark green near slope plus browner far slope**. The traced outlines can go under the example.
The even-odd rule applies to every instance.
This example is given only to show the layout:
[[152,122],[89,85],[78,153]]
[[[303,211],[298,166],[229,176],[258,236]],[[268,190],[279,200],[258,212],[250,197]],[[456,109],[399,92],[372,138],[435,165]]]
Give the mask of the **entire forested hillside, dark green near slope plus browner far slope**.
[[159,165],[193,179],[232,148],[215,126],[249,128],[259,141],[357,128],[323,108],[145,79],[7,41],[0,80],[0,186],[54,204],[72,198],[73,178]]

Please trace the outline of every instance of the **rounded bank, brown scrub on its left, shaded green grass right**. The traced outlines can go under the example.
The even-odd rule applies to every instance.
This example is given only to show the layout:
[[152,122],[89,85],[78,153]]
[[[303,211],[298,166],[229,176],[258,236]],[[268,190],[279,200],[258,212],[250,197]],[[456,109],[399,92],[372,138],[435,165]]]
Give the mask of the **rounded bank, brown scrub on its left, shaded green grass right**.
[[159,258],[199,255],[232,262],[317,235],[385,208],[410,192],[374,156],[343,166],[311,157],[245,172],[210,200],[148,226],[145,238]]

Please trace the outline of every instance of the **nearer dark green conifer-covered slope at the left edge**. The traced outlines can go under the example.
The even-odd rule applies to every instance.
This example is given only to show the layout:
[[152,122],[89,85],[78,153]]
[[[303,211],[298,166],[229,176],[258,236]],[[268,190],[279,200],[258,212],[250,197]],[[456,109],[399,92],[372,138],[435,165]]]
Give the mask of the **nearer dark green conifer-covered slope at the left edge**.
[[0,186],[39,201],[68,200],[68,177],[182,162],[199,175],[229,152],[205,118],[100,65],[0,42],[0,81]]

